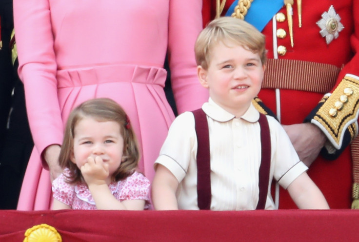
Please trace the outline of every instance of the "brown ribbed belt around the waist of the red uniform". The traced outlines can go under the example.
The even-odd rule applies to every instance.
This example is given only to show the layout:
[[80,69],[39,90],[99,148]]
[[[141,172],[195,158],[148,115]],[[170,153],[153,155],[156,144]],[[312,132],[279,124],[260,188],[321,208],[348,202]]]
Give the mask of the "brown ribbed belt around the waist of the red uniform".
[[268,59],[262,88],[327,93],[333,89],[340,70],[317,62]]

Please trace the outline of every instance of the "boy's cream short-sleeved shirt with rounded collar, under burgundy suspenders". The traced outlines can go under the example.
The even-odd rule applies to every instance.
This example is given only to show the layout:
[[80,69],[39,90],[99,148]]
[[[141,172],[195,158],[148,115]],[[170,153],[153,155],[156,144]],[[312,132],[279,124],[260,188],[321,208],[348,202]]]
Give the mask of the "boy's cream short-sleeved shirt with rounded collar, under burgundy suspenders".
[[[235,118],[211,99],[202,109],[207,114],[210,136],[211,210],[256,209],[261,158],[259,112],[251,104],[243,116]],[[272,146],[269,186],[274,177],[287,188],[308,167],[299,161],[279,122],[270,116],[267,119]],[[194,116],[186,112],[172,123],[155,162],[164,165],[180,182],[176,193],[180,209],[199,209],[196,155]],[[275,209],[270,189],[266,209]]]

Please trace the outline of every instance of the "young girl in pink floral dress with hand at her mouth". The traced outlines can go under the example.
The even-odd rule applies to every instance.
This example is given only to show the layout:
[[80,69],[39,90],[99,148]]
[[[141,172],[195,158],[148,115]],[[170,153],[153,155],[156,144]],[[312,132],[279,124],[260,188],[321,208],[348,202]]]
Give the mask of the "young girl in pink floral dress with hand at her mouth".
[[52,208],[147,208],[150,182],[135,171],[139,158],[123,109],[110,99],[83,102],[66,124],[59,158],[64,170],[52,183]]

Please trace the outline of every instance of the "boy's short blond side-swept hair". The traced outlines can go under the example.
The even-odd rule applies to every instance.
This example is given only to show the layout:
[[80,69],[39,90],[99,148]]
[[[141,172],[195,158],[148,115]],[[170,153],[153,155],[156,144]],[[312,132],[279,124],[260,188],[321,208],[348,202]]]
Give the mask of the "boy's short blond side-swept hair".
[[211,60],[211,49],[219,41],[224,44],[234,43],[258,53],[262,65],[267,61],[265,36],[253,25],[244,20],[232,17],[221,17],[212,20],[197,37],[195,54],[197,65],[207,70]]

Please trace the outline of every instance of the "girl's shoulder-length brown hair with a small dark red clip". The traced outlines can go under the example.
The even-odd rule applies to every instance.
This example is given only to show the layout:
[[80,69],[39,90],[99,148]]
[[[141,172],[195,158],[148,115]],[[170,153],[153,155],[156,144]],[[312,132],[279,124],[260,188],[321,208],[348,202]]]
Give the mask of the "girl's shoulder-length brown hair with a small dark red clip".
[[68,182],[83,181],[80,169],[70,160],[70,157],[74,148],[75,127],[84,118],[92,118],[99,122],[115,121],[120,124],[120,134],[123,138],[123,156],[120,167],[112,175],[111,180],[117,182],[130,176],[136,170],[140,160],[135,133],[128,116],[117,102],[108,98],[99,98],[80,104],[71,112],[67,120],[59,163],[62,168],[70,170],[70,173],[66,175]]

